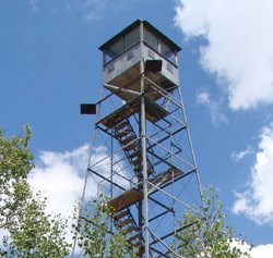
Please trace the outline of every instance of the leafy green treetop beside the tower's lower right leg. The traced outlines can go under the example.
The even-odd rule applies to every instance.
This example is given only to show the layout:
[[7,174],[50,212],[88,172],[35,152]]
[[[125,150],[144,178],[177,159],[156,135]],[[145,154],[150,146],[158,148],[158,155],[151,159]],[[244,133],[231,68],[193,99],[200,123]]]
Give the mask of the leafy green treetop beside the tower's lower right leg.
[[244,236],[226,225],[223,204],[213,186],[204,191],[203,207],[200,209],[200,213],[189,210],[183,216],[183,230],[177,234],[174,245],[181,257],[250,257],[251,247],[246,245]]

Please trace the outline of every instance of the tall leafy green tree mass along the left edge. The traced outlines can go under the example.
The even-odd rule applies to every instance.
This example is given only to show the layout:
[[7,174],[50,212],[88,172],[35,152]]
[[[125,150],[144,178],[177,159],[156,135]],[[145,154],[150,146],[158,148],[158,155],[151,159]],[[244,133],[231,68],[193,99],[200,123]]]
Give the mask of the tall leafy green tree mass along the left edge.
[[67,222],[45,212],[46,198],[33,194],[27,175],[34,168],[28,126],[21,136],[4,137],[0,131],[1,257],[62,258],[69,254]]

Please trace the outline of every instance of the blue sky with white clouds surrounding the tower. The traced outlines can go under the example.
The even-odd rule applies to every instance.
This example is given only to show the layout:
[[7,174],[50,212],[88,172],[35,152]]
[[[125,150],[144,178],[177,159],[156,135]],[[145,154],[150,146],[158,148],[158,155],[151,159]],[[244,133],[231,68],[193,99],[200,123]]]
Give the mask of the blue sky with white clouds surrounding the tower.
[[266,0],[1,1],[0,126],[12,135],[31,124],[29,182],[45,188],[49,209],[66,212],[81,193],[94,118],[79,107],[100,96],[98,47],[143,19],[182,47],[180,86],[202,185],[217,187],[254,258],[273,254],[272,8]]

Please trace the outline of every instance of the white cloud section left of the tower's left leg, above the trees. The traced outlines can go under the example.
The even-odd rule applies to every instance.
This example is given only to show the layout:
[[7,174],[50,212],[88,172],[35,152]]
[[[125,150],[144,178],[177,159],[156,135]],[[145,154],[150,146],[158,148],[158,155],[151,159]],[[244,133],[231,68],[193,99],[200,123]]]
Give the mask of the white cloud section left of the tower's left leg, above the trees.
[[66,152],[40,152],[28,182],[48,197],[48,212],[72,216],[82,193],[87,155],[87,145]]

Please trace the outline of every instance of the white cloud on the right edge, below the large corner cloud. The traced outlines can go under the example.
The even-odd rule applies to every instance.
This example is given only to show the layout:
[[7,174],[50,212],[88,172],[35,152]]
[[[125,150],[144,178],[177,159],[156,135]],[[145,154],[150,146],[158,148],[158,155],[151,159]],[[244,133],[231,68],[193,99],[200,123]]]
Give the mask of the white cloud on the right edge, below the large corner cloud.
[[237,214],[246,214],[258,224],[273,225],[273,124],[262,130],[256,158],[249,188],[236,193],[233,210]]

